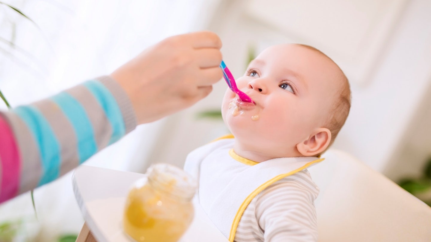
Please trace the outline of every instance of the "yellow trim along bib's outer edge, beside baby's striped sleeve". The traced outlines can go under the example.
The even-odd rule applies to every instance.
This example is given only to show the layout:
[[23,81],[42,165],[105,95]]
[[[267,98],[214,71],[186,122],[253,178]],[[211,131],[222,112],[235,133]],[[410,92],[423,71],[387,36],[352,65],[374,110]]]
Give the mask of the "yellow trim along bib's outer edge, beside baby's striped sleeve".
[[260,185],[258,188],[256,188],[256,190],[254,190],[252,193],[250,193],[250,195],[248,195],[247,198],[244,200],[244,202],[241,204],[240,208],[237,211],[237,214],[235,215],[235,218],[234,218],[234,221],[233,221],[232,227],[231,227],[231,233],[229,234],[229,241],[230,242],[234,241],[235,233],[237,232],[238,223],[240,222],[242,214],[244,213],[247,206],[250,204],[251,200],[253,200],[253,198],[256,197],[256,195],[259,194],[259,192],[262,192],[265,188],[270,186],[272,183],[275,183],[276,181],[280,180],[281,178],[295,174],[298,171],[302,171],[303,169],[309,167],[310,165],[315,164],[315,163],[320,162],[320,161],[323,161],[323,160],[324,160],[324,158],[318,159],[315,161],[310,161],[307,164],[303,165],[302,167],[300,167],[294,171],[290,171],[290,172],[285,173],[285,174],[280,174],[280,175],[272,178],[271,180],[266,181],[265,183]]

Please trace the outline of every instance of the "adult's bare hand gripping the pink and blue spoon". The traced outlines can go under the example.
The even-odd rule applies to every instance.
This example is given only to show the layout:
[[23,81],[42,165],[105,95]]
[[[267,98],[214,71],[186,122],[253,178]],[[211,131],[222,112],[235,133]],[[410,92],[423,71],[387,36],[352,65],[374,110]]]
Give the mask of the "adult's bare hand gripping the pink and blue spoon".
[[166,38],[111,74],[128,94],[138,124],[193,105],[222,78],[220,38],[208,31]]

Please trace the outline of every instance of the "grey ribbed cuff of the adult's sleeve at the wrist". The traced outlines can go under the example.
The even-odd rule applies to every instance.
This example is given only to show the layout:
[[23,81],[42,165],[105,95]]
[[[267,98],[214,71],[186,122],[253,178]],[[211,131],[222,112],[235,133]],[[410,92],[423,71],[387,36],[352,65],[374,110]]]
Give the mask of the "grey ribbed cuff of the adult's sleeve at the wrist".
[[134,130],[137,125],[136,115],[133,110],[133,105],[123,88],[110,76],[98,77],[96,80],[100,81],[100,83],[108,88],[112,96],[114,96],[117,101],[121,114],[123,115],[124,125],[126,128],[125,134]]

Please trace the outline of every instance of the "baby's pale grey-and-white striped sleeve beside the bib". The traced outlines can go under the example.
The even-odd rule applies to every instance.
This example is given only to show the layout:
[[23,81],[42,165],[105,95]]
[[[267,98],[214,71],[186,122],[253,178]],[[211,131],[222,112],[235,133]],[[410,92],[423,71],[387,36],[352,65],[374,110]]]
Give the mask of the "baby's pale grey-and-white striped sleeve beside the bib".
[[314,200],[318,194],[308,171],[272,184],[247,206],[234,241],[316,242]]

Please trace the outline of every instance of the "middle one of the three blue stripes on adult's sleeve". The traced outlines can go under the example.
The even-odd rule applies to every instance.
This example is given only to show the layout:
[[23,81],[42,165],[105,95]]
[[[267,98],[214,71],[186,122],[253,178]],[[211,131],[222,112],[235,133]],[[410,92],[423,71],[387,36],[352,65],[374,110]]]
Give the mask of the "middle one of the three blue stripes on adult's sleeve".
[[70,94],[59,93],[51,97],[51,100],[59,105],[64,115],[66,115],[73,126],[78,142],[79,164],[81,164],[97,152],[91,121],[81,103]]

